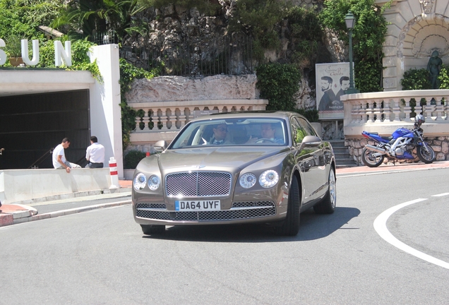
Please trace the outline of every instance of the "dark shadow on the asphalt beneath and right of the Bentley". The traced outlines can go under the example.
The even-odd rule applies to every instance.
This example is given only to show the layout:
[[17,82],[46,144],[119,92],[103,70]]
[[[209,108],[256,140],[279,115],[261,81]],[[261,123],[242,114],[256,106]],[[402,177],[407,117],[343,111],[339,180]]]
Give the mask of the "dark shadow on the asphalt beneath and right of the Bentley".
[[313,209],[301,214],[296,237],[278,237],[269,225],[186,225],[168,227],[163,234],[144,235],[148,239],[170,239],[205,242],[273,242],[307,241],[327,237],[357,217],[357,208],[335,208],[331,215],[318,215]]

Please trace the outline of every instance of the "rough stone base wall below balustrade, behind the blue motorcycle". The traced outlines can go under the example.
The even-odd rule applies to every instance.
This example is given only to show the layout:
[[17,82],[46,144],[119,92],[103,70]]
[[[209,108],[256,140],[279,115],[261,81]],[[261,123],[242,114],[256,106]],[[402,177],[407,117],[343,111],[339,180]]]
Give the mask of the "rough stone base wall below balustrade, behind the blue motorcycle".
[[[432,138],[424,138],[424,140],[431,145],[433,150],[435,151],[436,161],[445,161],[449,160],[449,137],[441,136],[441,137],[432,137]],[[354,158],[354,161],[357,162],[358,165],[364,165],[361,162],[361,152],[364,150],[366,144],[376,145],[373,140],[368,140],[366,138],[347,138],[345,140],[345,147],[349,150],[349,155]],[[414,150],[413,155],[416,157],[415,160],[419,160],[416,154],[416,150]],[[385,158],[383,162],[388,162],[388,159]],[[397,162],[414,162],[411,160],[401,160]]]

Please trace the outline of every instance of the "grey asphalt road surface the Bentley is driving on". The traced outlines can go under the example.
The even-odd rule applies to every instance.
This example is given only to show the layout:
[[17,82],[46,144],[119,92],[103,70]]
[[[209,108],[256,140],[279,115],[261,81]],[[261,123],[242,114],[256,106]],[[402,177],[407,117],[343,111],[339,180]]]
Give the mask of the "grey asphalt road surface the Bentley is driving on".
[[0,304],[447,304],[435,262],[449,263],[448,174],[340,177],[335,213],[306,211],[289,238],[265,226],[147,237],[131,205],[1,227]]

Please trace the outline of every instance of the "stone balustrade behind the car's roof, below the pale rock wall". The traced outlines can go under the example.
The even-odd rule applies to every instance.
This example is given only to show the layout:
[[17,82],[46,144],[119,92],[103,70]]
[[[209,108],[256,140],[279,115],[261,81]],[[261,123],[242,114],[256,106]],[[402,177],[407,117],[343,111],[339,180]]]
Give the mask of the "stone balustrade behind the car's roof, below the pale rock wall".
[[188,100],[174,102],[136,102],[128,106],[138,112],[133,145],[173,140],[178,131],[196,116],[212,112],[265,110],[268,100]]

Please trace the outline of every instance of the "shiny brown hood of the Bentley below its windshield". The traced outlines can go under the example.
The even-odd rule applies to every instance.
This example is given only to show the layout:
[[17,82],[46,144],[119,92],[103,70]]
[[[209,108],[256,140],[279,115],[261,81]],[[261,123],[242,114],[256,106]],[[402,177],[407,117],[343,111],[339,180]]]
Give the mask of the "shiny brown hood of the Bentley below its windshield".
[[244,169],[288,148],[192,148],[166,150],[159,155],[159,167],[164,172],[192,169]]

